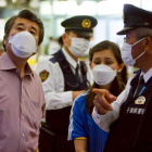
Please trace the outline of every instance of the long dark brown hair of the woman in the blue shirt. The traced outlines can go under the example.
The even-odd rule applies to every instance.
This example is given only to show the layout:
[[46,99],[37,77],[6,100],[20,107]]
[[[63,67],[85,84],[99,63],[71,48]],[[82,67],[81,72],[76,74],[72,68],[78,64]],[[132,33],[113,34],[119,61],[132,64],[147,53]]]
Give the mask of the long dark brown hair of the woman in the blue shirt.
[[[90,51],[89,51],[90,62],[92,62],[93,54],[96,52],[106,50],[106,49],[110,49],[112,51],[112,53],[114,54],[118,64],[123,64],[123,60],[121,56],[121,50],[119,50],[118,46],[112,41],[109,41],[109,40],[101,41],[98,45],[96,45],[92,49],[90,49]],[[122,81],[121,73],[118,73],[112,83],[111,93],[117,97],[123,91],[124,86],[125,85]],[[93,85],[89,89],[89,92],[87,96],[87,102],[86,102],[86,109],[87,109],[89,114],[92,113],[92,109],[93,109],[92,101],[93,101],[94,96],[96,96],[96,93],[92,92],[93,88],[99,88],[99,85],[93,83]]]

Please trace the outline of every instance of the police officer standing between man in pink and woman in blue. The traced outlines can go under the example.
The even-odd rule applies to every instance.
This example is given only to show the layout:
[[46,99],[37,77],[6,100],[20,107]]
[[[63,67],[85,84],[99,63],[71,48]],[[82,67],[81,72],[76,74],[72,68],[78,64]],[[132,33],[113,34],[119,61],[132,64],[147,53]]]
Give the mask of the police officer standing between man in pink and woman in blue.
[[67,141],[69,112],[74,99],[88,89],[90,80],[87,66],[79,56],[89,48],[97,20],[80,15],[67,18],[61,25],[65,27],[63,48],[42,59],[37,66],[47,103],[46,123],[42,123],[40,134],[42,152],[75,151],[73,141]]

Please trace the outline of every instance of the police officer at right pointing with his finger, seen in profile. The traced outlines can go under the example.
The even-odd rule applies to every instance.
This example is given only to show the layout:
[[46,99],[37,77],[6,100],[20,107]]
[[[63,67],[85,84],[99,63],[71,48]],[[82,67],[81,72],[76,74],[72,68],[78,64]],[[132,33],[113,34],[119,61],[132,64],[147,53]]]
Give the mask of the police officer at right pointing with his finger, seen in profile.
[[151,152],[152,12],[125,4],[124,24],[124,29],[117,33],[126,35],[122,58],[139,69],[117,100],[106,90],[93,90],[100,94],[93,100],[93,118],[102,129],[110,128],[104,152]]

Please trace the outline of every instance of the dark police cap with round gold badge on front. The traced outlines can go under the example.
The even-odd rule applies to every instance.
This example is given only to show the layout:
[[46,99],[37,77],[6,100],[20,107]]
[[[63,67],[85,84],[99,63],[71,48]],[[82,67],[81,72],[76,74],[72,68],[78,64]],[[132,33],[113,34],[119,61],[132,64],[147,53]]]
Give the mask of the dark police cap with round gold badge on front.
[[61,23],[65,31],[71,30],[77,35],[92,37],[92,28],[97,25],[97,20],[88,15],[79,15],[67,18]]

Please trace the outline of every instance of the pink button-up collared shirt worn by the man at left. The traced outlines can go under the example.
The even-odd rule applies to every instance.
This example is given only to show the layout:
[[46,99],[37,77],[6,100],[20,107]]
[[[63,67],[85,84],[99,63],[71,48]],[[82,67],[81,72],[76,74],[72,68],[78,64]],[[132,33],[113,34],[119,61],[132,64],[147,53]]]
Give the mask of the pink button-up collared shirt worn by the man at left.
[[0,152],[36,152],[45,97],[39,76],[26,64],[25,76],[7,53],[0,58]]

